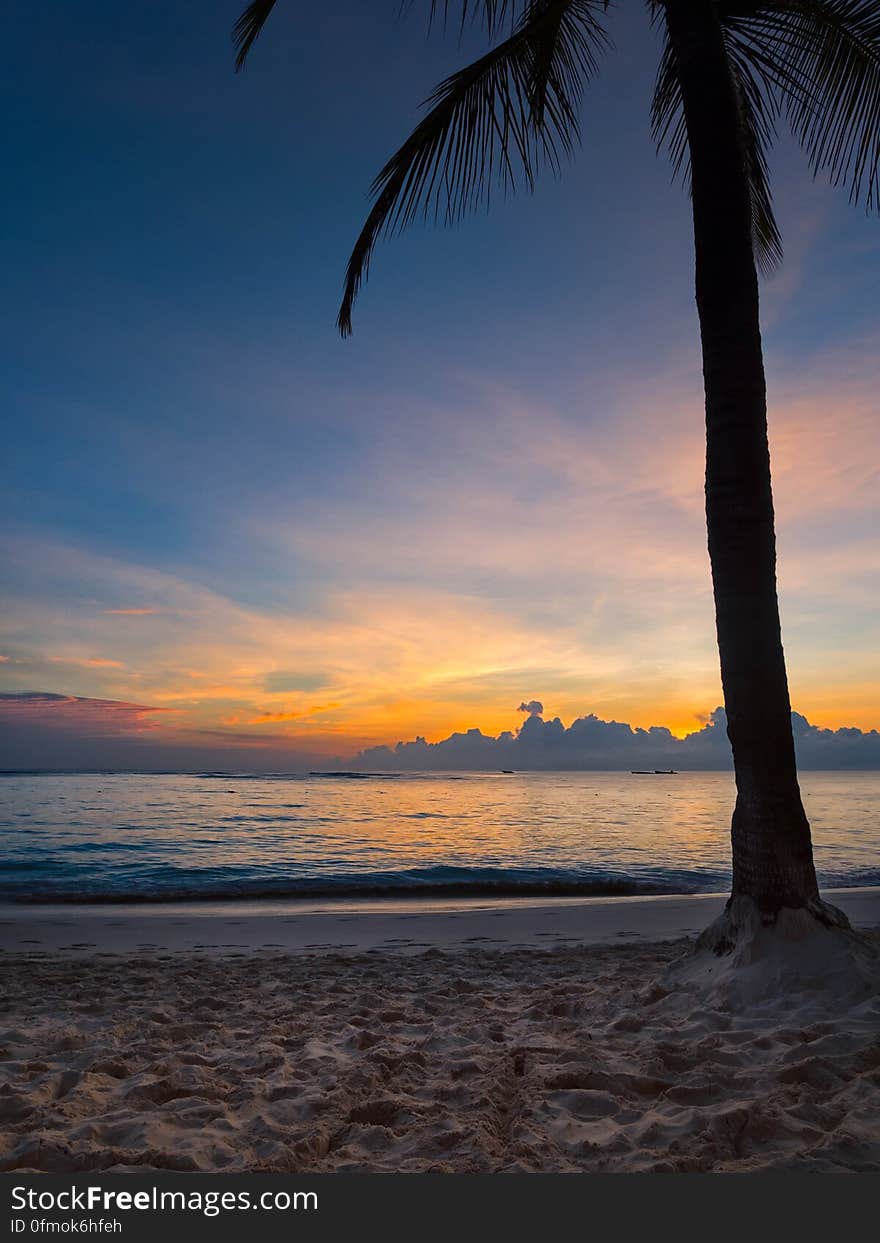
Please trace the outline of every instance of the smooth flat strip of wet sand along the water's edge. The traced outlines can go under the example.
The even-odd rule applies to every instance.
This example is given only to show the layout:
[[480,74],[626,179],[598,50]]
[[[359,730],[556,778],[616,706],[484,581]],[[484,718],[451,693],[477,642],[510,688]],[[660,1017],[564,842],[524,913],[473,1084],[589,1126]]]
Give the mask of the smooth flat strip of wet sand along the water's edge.
[[[726,896],[4,904],[0,952],[6,961],[11,955],[67,961],[651,945],[699,935]],[[823,896],[854,926],[880,926],[880,886],[829,889]]]

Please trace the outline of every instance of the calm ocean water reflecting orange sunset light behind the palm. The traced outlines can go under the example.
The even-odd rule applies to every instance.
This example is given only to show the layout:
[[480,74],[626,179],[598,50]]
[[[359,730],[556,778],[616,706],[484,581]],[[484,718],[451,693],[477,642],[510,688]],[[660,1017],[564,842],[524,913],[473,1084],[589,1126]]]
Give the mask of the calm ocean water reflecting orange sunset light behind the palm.
[[[802,773],[824,886],[880,884],[880,773]],[[0,900],[721,892],[731,773],[0,774]]]

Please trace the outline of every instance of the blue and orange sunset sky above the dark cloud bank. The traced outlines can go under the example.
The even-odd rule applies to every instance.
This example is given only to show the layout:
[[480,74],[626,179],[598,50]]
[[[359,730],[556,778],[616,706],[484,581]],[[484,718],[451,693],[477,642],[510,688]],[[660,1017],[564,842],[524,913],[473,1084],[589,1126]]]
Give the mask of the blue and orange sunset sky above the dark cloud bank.
[[[573,164],[382,245],[349,341],[369,183],[485,44],[428,39],[419,0],[280,0],[236,76],[237,10],[6,20],[0,767],[293,766],[533,718],[702,737],[692,240],[644,6],[609,12]],[[789,139],[772,168],[792,702],[870,732],[880,224]]]

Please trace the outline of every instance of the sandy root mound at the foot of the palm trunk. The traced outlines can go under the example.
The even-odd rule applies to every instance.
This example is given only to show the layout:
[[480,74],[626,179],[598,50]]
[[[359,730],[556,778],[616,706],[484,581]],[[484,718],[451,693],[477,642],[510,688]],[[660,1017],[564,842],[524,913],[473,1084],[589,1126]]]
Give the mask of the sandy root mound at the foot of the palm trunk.
[[773,916],[743,895],[669,968],[669,982],[705,987],[727,1003],[808,992],[832,1007],[880,994],[880,943],[822,899]]

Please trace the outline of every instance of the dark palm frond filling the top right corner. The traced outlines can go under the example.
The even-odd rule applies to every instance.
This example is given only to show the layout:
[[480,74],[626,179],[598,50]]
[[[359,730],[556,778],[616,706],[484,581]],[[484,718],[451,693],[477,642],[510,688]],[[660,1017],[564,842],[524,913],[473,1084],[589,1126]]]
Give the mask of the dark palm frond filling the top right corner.
[[743,55],[773,78],[814,174],[880,210],[880,0],[723,0]]

